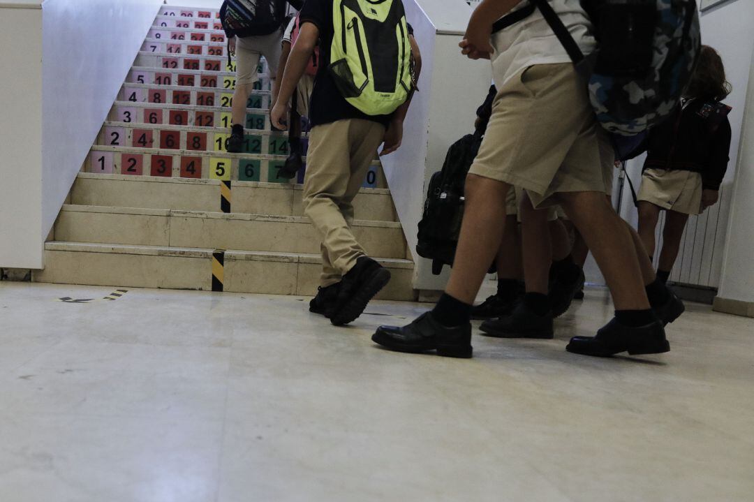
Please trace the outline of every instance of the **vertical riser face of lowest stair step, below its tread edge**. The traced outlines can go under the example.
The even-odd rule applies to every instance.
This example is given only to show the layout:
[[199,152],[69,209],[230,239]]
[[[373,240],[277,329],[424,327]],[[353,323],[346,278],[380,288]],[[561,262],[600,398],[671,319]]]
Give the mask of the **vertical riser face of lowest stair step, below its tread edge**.
[[[209,258],[144,256],[68,251],[45,252],[46,268],[38,283],[84,284],[164,289],[212,289]],[[314,295],[320,265],[314,263],[225,260],[225,291],[274,295]],[[412,301],[409,268],[390,269],[391,282],[376,298]],[[302,305],[302,308],[308,308]]]

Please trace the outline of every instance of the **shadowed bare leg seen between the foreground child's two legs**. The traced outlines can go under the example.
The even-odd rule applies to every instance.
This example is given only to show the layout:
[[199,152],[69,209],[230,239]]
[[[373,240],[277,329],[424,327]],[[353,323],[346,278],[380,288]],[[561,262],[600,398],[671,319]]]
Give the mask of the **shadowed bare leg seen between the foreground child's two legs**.
[[547,210],[535,210],[532,200],[524,191],[521,200],[521,237],[523,249],[523,275],[526,292],[547,295],[553,246],[547,224]]

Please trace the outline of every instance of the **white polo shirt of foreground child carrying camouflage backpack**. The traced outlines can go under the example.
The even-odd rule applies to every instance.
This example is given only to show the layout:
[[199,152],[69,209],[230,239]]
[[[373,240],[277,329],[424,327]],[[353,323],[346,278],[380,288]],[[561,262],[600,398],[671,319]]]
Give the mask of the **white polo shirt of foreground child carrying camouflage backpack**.
[[[560,20],[566,25],[571,36],[584,54],[596,49],[596,41],[591,35],[592,23],[580,0],[548,0]],[[528,5],[523,0],[513,8],[517,11]],[[492,35],[492,78],[498,89],[511,77],[532,65],[570,63],[566,49],[562,47],[553,29],[542,17],[539,9],[526,19],[508,26]]]

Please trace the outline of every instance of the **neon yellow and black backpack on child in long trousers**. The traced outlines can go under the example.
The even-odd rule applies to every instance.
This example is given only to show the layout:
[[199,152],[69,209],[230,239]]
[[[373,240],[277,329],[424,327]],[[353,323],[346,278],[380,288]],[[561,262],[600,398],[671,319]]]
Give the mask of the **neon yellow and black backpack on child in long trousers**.
[[411,44],[401,0],[333,0],[329,72],[348,103],[388,115],[412,86]]

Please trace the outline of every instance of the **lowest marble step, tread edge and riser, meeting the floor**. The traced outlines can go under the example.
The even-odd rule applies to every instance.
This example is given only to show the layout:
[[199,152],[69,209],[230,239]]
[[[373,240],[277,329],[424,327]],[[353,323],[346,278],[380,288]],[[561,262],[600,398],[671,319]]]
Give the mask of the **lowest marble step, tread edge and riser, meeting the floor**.
[[[45,246],[44,271],[38,283],[162,289],[212,289],[210,248],[127,246],[108,243],[54,241]],[[378,259],[392,279],[377,298],[414,301],[413,263],[406,259]],[[274,295],[317,292],[320,256],[307,253],[225,252],[224,291]],[[302,308],[308,308],[302,303]]]

